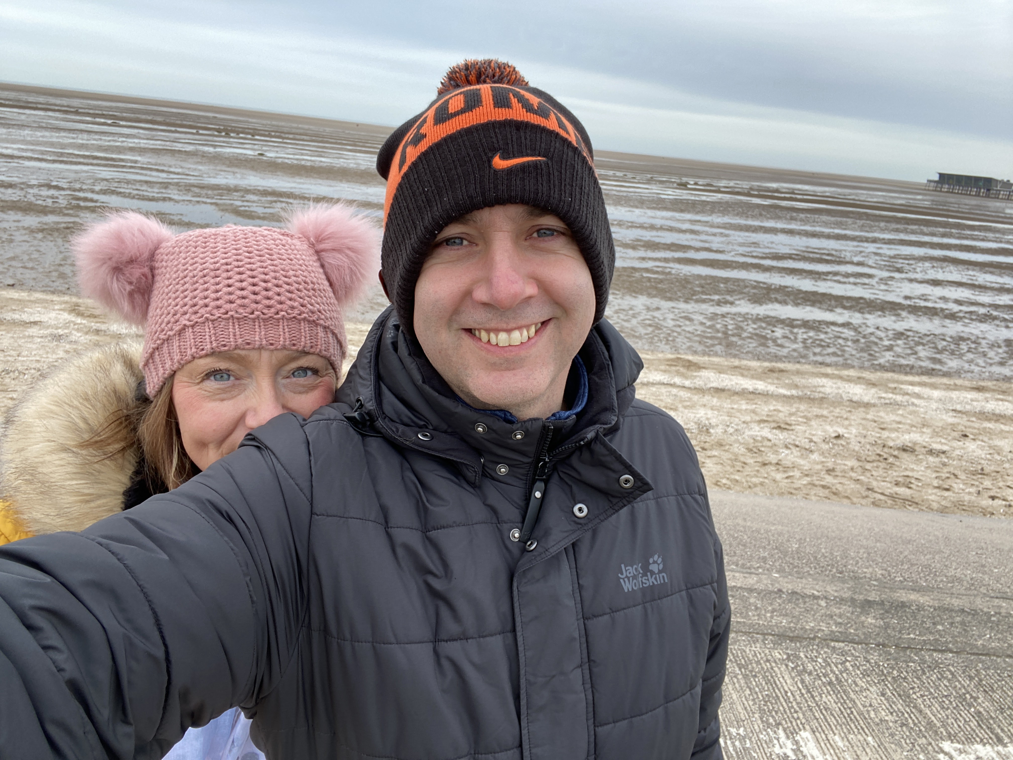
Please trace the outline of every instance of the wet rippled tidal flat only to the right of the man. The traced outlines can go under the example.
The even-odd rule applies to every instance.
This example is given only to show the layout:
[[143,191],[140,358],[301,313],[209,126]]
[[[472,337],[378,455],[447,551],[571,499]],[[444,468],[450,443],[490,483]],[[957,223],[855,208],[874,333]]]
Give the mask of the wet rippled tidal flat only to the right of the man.
[[638,346],[1013,377],[1013,204],[746,167],[745,180],[673,165],[634,181],[610,166],[610,315]]

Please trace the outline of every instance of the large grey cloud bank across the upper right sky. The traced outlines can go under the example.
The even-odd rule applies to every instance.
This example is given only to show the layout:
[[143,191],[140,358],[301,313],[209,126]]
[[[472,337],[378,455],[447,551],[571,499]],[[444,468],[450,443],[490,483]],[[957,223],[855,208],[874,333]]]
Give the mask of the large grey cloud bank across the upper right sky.
[[460,3],[381,0],[311,3],[292,20],[312,18],[405,44],[569,66],[744,103],[1010,134],[1009,2],[949,2],[935,10],[924,4],[928,10],[892,18],[870,10],[843,21],[819,2],[628,7],[521,0],[509,10],[500,4],[465,10]]

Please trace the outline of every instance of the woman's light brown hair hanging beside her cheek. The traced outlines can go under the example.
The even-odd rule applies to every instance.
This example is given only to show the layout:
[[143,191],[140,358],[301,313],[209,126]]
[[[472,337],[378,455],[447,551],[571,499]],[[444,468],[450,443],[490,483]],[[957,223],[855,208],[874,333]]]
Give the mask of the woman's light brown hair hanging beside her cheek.
[[153,493],[172,490],[199,471],[183,448],[172,403],[172,380],[169,376],[154,398],[138,393],[133,404],[112,412],[98,432],[81,443],[99,453],[101,460],[138,449]]

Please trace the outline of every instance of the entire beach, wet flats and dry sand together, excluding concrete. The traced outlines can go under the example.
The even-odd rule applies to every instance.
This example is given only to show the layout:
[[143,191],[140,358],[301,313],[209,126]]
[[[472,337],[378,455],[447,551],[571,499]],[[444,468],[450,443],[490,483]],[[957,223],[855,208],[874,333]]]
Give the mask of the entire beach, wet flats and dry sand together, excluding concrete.
[[[103,208],[177,229],[278,224],[325,198],[379,216],[388,128],[0,84],[0,411],[134,330],[74,293]],[[914,182],[599,152],[608,317],[637,393],[712,488],[1013,515],[1013,204]],[[386,305],[349,313],[359,344]]]

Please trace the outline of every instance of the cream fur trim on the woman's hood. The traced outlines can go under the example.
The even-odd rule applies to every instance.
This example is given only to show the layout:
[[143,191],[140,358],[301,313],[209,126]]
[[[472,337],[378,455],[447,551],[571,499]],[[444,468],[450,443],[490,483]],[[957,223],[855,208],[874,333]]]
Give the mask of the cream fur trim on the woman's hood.
[[7,412],[0,495],[32,533],[84,530],[123,510],[139,450],[104,456],[80,444],[133,403],[140,362],[140,341],[80,354],[36,381]]

